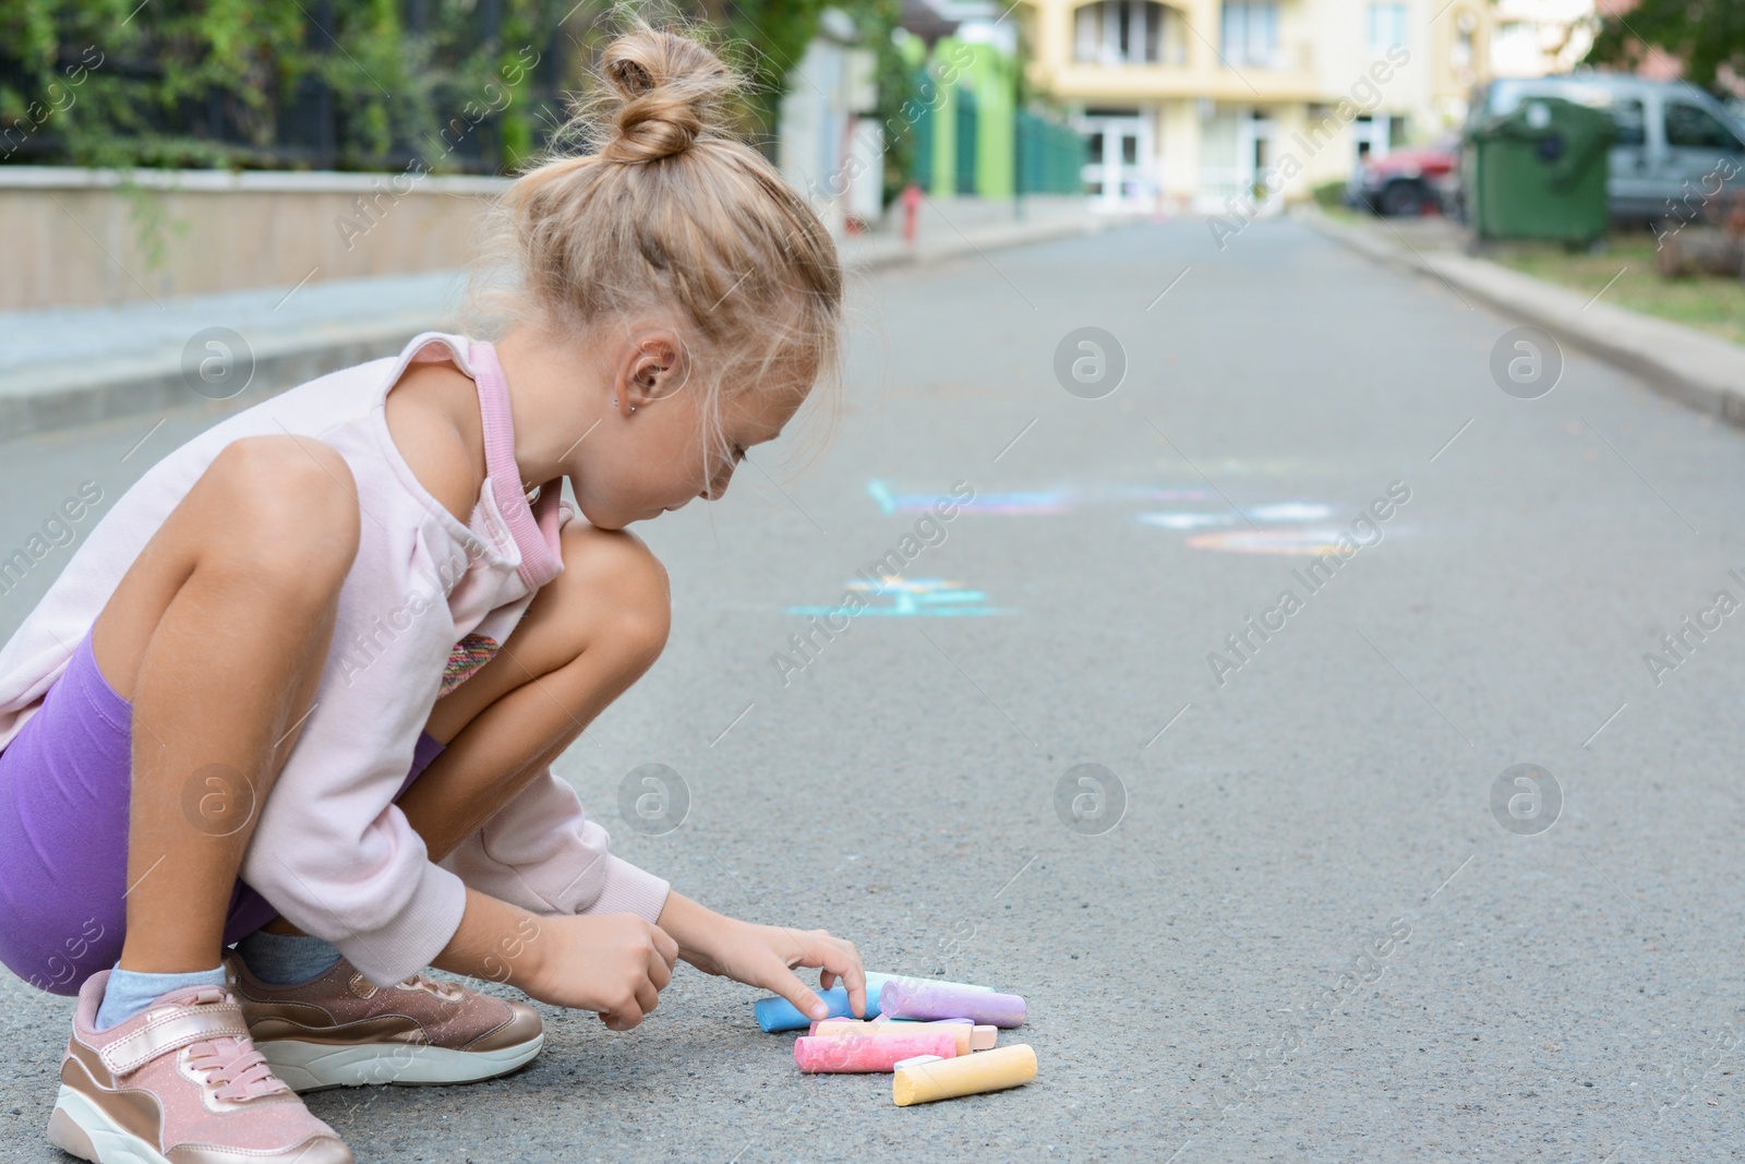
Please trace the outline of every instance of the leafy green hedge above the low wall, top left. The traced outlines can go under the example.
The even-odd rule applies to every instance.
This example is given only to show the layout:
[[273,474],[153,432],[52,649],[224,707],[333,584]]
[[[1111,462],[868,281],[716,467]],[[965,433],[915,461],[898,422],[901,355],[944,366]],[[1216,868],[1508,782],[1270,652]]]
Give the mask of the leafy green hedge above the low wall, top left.
[[[691,0],[773,140],[824,0]],[[845,5],[881,49],[897,0]],[[660,12],[649,10],[660,23]],[[0,164],[508,173],[614,28],[604,0],[0,0]]]

